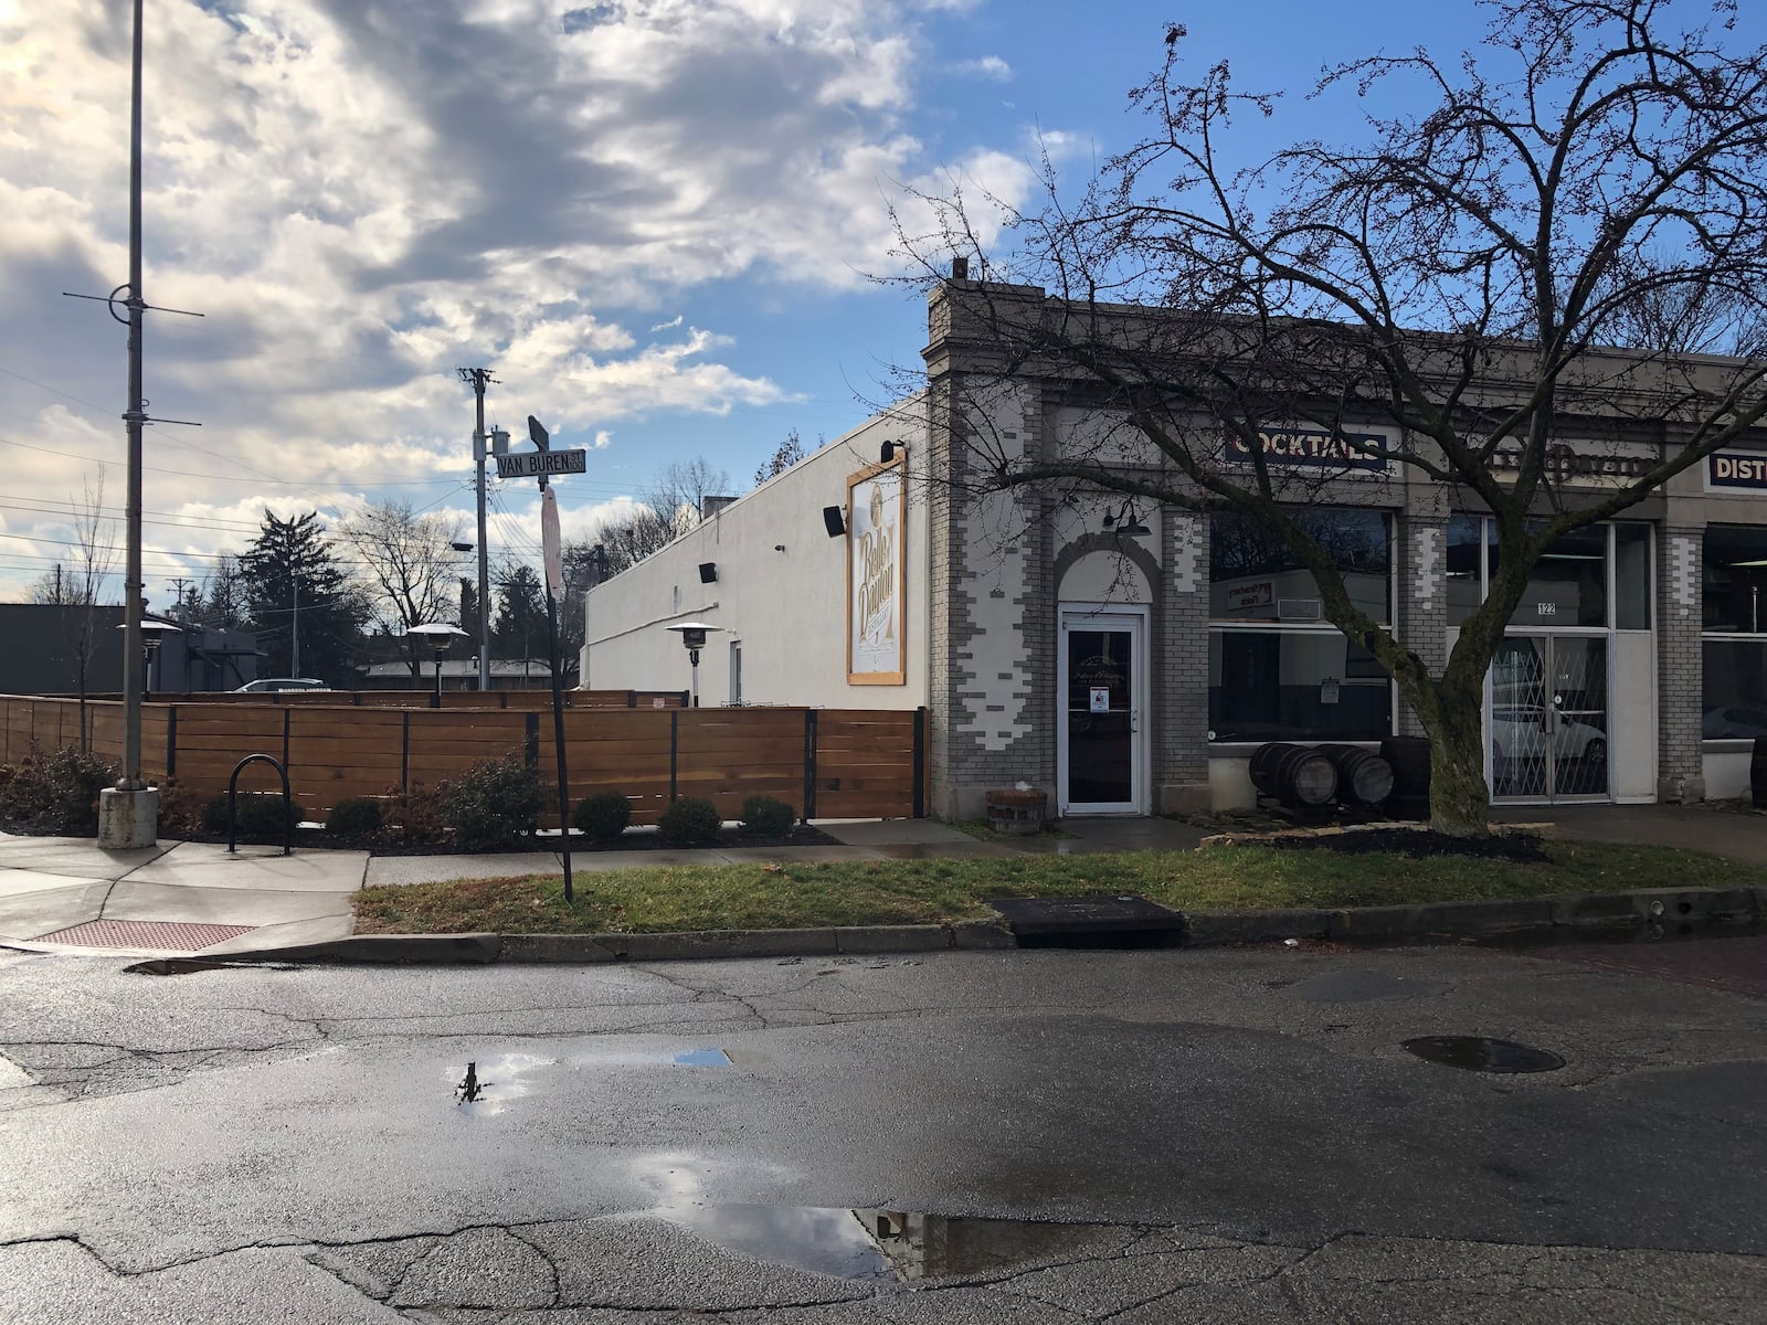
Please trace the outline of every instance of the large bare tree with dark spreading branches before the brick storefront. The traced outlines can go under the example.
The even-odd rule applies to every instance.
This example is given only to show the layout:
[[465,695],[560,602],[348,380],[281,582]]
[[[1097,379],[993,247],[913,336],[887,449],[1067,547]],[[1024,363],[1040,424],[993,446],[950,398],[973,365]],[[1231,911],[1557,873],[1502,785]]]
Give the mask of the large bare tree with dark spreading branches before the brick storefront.
[[[961,196],[929,198],[942,221],[903,233],[922,281],[951,253],[981,277],[935,306],[970,355],[949,387],[968,392],[951,405],[968,412],[949,429],[954,482],[1083,486],[1272,530],[1325,617],[1398,682],[1431,737],[1431,818],[1463,834],[1488,818],[1484,675],[1541,553],[1767,412],[1763,360],[1675,353],[1712,344],[1714,311],[1742,348],[1762,325],[1767,49],[1726,49],[1728,25],[1668,30],[1668,0],[1486,7],[1475,53],[1373,55],[1315,90],[1401,81],[1428,102],[1415,115],[1242,171],[1223,164],[1233,122],[1274,117],[1279,97],[1239,92],[1226,62],[1187,78],[1172,26],[1131,94],[1150,131],[1078,194],[1046,166],[1044,205],[1011,216],[997,247]],[[1615,344],[1629,348],[1601,348]],[[1064,449],[1012,445],[984,406],[1021,375],[1067,380],[1099,424]],[[1566,482],[1562,438],[1589,420],[1633,424],[1606,488]],[[1316,463],[1279,463],[1283,429],[1322,438]],[[1493,518],[1488,595],[1440,666],[1352,601],[1297,519],[1376,461]]]

